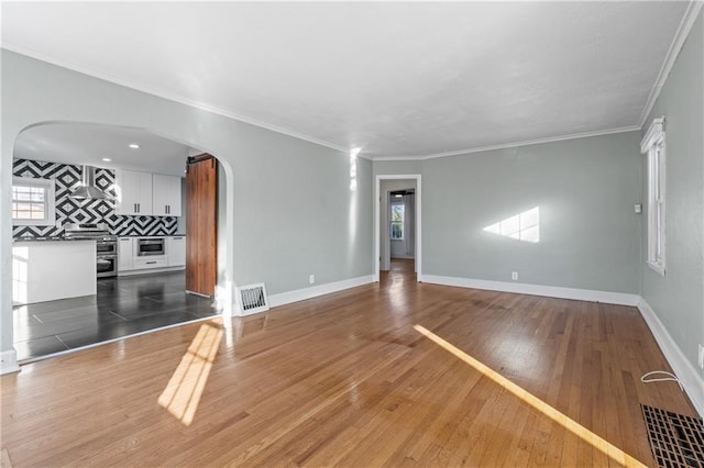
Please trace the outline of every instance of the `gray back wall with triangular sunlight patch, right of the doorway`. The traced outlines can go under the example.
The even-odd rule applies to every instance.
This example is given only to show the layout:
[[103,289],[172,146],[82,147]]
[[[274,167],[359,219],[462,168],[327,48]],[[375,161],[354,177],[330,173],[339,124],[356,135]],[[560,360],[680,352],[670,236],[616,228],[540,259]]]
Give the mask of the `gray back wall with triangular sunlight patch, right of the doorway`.
[[[422,175],[422,274],[638,293],[638,132],[409,163]],[[420,169],[420,170],[418,170]],[[540,208],[540,242],[485,232]]]

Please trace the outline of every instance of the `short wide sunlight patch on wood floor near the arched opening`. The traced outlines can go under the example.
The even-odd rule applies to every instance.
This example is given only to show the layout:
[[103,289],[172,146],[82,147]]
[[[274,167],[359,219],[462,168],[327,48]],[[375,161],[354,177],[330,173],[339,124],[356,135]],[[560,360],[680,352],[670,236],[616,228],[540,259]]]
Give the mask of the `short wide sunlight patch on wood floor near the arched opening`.
[[222,320],[216,319],[211,323],[200,325],[180,364],[158,397],[158,404],[186,426],[194,421],[200,395],[206,388],[222,341]]

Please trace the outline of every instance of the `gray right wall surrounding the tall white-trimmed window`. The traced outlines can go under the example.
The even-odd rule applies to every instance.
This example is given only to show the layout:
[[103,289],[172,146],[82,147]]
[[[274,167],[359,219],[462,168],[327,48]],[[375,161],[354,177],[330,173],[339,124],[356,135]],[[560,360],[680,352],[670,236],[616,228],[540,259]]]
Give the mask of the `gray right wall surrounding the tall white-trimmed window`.
[[[686,359],[696,366],[704,344],[704,20],[698,19],[678,56],[644,125],[666,116],[666,276],[647,258],[644,216],[642,297],[656,312]],[[642,199],[647,202],[646,156]]]

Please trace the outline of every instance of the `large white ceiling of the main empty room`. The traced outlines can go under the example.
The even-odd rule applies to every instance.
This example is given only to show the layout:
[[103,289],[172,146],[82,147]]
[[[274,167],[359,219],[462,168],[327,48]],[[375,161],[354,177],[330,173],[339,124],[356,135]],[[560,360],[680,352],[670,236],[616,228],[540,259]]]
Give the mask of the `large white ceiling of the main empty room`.
[[2,3],[3,47],[369,157],[635,129],[689,2]]

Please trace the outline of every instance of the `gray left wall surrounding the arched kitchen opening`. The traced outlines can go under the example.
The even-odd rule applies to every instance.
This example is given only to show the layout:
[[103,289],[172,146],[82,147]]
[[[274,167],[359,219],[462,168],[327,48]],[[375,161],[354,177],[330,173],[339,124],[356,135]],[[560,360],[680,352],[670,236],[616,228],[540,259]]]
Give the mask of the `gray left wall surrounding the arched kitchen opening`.
[[[372,271],[371,163],[298,138],[117,86],[2,49],[0,350],[12,348],[10,187],[14,140],[38,122],[146,129],[211,153],[228,187],[228,278],[270,293]],[[232,183],[230,183],[232,182]]]

